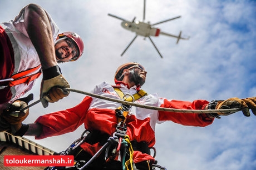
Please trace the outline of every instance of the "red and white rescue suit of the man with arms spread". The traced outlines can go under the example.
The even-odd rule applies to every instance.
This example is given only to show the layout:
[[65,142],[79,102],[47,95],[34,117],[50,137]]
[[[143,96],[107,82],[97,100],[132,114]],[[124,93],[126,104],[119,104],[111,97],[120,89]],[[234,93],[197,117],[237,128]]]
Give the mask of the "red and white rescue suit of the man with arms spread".
[[[121,84],[120,89],[124,94],[129,93],[132,95],[137,92],[136,86],[127,88],[124,84]],[[119,95],[115,92],[115,89],[106,82],[96,86],[92,93],[120,99]],[[169,101],[166,98],[158,97],[156,94],[149,94],[137,99],[135,103],[176,109],[204,109],[209,102],[204,100],[196,100],[193,102]],[[90,131],[98,130],[112,136],[116,131],[117,125],[115,109],[120,106],[120,103],[86,96],[80,104],[73,108],[40,116],[36,122],[43,125],[43,131],[40,136],[36,137],[36,139],[75,131],[75,129],[83,123],[85,128]],[[155,144],[156,123],[163,123],[165,121],[173,121],[185,126],[204,127],[211,124],[213,119],[208,118],[206,114],[174,113],[132,106],[129,115],[126,118],[126,134],[130,137],[131,141],[145,141],[149,147],[152,147]],[[102,146],[100,143],[93,145],[83,143],[81,147],[86,152],[94,155]],[[146,160],[154,161],[154,158],[146,153],[134,151],[135,163]]]

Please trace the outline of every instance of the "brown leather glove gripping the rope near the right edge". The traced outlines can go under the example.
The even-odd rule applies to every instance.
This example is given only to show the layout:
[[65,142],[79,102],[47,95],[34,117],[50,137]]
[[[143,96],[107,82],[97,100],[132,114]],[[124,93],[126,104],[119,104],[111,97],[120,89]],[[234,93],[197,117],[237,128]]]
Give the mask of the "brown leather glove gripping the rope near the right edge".
[[[254,102],[251,99],[247,99],[247,102],[250,104],[254,104],[254,111],[256,111],[256,105],[254,102],[256,102],[256,99],[254,98]],[[253,106],[253,104],[251,106]],[[233,98],[229,98],[225,101],[219,101],[216,104],[215,109],[231,109],[231,108],[239,108],[242,110],[244,116],[249,117],[250,116],[250,112],[249,112],[249,107],[247,106],[247,103],[244,101],[244,99],[240,99],[237,97],[233,97]],[[256,112],[254,112],[256,113]],[[227,116],[229,114],[232,113],[218,113],[219,115],[222,116]]]

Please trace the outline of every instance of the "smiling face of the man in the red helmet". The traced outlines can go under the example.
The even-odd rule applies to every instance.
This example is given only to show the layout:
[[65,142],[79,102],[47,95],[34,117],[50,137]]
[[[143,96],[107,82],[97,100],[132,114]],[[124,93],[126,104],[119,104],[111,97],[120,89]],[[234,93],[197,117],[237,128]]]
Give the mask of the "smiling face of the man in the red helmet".
[[77,49],[70,38],[62,39],[55,44],[55,53],[57,60],[61,62],[70,61],[76,57]]

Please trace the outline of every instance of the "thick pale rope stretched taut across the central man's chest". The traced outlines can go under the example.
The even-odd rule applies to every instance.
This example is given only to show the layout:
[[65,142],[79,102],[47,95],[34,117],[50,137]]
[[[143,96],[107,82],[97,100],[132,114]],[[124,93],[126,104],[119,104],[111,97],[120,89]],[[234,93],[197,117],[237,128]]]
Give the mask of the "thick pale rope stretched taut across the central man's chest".
[[190,110],[190,109],[174,109],[174,108],[147,106],[147,105],[143,105],[143,104],[137,104],[137,103],[127,102],[127,101],[122,101],[120,99],[114,99],[114,98],[109,98],[109,97],[105,97],[105,96],[100,96],[98,94],[83,92],[83,91],[79,91],[77,89],[72,89],[72,88],[66,88],[66,89],[67,89],[67,91],[70,91],[70,92],[81,93],[81,94],[85,94],[87,96],[96,97],[96,98],[100,98],[100,99],[105,99],[105,100],[111,101],[111,102],[121,103],[121,104],[129,105],[129,106],[135,106],[135,107],[140,107],[140,108],[145,108],[145,109],[152,109],[152,110],[156,110],[156,111],[178,112],[178,113],[235,113],[235,112],[240,111],[239,108],[214,109],[214,110],[211,110],[211,109],[208,109],[208,110]]

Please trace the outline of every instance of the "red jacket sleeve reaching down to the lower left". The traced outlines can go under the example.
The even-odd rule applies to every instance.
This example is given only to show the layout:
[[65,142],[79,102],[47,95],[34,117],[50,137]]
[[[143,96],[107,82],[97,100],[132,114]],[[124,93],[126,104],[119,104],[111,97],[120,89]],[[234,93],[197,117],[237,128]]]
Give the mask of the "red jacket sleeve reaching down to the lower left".
[[43,130],[36,139],[75,131],[83,123],[91,101],[91,97],[85,97],[80,104],[73,108],[38,117],[35,123],[42,124]]

